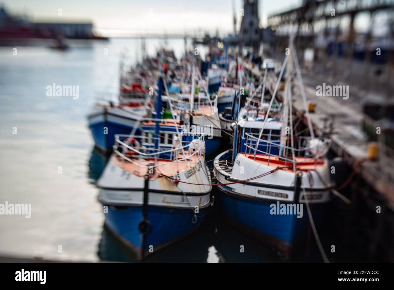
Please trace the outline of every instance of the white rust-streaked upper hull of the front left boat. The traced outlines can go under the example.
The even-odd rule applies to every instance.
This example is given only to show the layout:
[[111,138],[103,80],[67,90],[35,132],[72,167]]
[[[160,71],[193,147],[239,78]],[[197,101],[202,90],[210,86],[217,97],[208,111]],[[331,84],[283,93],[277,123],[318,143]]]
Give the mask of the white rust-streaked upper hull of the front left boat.
[[[100,188],[99,200],[102,204],[122,206],[142,206],[145,178],[126,172],[114,162],[112,157],[97,185]],[[184,161],[179,161],[184,162]],[[191,170],[182,171],[171,178],[189,183],[175,186],[165,177],[149,180],[149,206],[171,208],[204,208],[210,204],[210,172],[204,165],[204,159]],[[173,166],[177,166],[175,163]]]

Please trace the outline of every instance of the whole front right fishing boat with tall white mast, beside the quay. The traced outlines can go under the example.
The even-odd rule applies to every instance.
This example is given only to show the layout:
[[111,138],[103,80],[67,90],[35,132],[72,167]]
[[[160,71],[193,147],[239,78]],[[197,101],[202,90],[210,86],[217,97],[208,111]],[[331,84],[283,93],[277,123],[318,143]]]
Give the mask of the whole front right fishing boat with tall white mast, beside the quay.
[[307,110],[309,136],[293,133],[291,77],[286,79],[280,119],[275,120],[279,117],[271,114],[287,64],[286,71],[291,76],[293,66],[289,59],[296,66],[306,109],[298,62],[286,56],[268,107],[265,111],[260,109],[260,116],[242,116],[234,126],[232,150],[220,153],[214,160],[219,210],[243,232],[285,258],[290,257],[297,244],[306,244],[309,225],[313,225],[315,233],[313,221],[318,224],[331,186],[326,158],[330,141],[314,136]]

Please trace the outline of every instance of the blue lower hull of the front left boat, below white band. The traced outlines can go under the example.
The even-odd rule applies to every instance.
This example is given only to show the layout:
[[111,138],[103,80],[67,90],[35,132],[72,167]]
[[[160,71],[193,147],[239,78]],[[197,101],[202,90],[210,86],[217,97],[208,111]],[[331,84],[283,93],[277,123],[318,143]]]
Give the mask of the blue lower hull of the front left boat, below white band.
[[[115,208],[108,206],[107,226],[131,246],[137,256],[141,252],[142,237],[138,225],[143,219],[142,206]],[[200,208],[197,221],[193,223],[194,212],[190,209],[148,207],[147,219],[152,231],[146,236],[145,255],[153,246],[153,253],[178,239],[190,234],[204,221],[208,207]],[[139,256],[141,258],[141,256]]]

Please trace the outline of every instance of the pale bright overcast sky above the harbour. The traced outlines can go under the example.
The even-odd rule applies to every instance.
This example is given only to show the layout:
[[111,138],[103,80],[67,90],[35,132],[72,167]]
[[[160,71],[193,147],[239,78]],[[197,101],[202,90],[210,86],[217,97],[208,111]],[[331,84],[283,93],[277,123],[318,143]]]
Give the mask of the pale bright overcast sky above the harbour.
[[[260,24],[267,15],[301,6],[302,0],[260,0]],[[240,26],[242,0],[0,0],[14,15],[32,21],[92,21],[108,32],[195,34],[232,32],[233,6]],[[61,9],[61,16],[59,16]]]

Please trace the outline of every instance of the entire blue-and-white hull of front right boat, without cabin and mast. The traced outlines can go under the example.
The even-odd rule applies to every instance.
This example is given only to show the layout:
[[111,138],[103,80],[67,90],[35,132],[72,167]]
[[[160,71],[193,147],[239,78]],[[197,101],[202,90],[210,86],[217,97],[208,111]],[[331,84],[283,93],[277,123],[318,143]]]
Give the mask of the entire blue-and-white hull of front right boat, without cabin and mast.
[[[290,257],[294,245],[304,242],[309,227],[309,216],[305,204],[305,196],[301,189],[299,201],[295,200],[295,176],[292,172],[277,170],[272,174],[232,185],[225,183],[242,180],[241,176],[258,176],[258,174],[275,169],[276,165],[258,165],[253,160],[239,154],[234,162],[234,168],[225,166],[225,161],[232,151],[219,154],[214,161],[214,178],[218,184],[219,193],[216,204],[219,211],[230,219],[244,232],[257,238],[265,245],[271,246],[286,258]],[[222,161],[219,161],[222,160]],[[255,163],[255,164],[254,164]],[[234,174],[238,167],[248,168],[245,174]],[[327,167],[320,170],[321,176],[329,180]],[[249,174],[250,172],[258,172]],[[327,181],[328,182],[328,181]],[[316,224],[323,214],[325,203],[329,200],[329,190],[322,183],[314,184],[309,188],[308,176],[303,174],[301,187],[306,188],[312,217]],[[318,199],[320,197],[320,199]],[[292,208],[294,212],[280,213],[280,206]],[[297,208],[298,204],[298,208]],[[293,205],[296,205],[294,207]],[[301,208],[302,205],[302,208]],[[301,212],[299,211],[300,209]],[[297,212],[298,211],[298,212]]]

